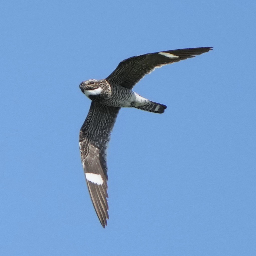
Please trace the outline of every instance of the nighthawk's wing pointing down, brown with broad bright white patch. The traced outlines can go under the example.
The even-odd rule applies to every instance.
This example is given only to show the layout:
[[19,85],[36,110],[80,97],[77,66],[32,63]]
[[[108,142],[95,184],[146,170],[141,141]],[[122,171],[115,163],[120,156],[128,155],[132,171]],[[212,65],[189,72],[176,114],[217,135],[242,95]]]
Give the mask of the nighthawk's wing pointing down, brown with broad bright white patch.
[[105,228],[108,215],[106,148],[120,108],[92,101],[79,133],[79,148],[86,183],[94,209]]

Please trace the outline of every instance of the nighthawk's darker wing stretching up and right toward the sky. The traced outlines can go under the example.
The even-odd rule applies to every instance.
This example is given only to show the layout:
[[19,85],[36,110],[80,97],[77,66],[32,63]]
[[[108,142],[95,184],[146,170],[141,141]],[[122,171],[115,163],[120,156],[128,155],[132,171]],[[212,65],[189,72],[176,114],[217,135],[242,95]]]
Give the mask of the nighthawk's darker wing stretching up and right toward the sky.
[[195,57],[195,55],[208,52],[209,50],[212,50],[212,47],[178,49],[134,56],[121,61],[106,80],[110,84],[117,84],[132,89],[138,81],[155,68]]

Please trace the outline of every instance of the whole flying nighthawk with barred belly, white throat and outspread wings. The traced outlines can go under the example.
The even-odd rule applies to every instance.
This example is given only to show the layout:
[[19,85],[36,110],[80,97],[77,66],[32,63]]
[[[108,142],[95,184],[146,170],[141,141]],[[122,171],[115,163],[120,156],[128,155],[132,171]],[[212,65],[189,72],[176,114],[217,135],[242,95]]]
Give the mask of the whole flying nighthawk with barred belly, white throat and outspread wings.
[[80,84],[81,91],[92,101],[79,133],[82,165],[92,204],[105,228],[108,215],[106,149],[116,116],[123,107],[163,113],[166,106],[143,98],[133,86],[155,68],[195,57],[212,47],[160,51],[123,60],[105,79],[90,79]]

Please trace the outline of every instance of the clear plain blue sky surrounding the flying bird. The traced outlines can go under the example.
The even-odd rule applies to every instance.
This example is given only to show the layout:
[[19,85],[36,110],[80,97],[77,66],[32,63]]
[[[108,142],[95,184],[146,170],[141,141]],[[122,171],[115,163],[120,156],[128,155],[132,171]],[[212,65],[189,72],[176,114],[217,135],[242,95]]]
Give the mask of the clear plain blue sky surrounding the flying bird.
[[[1,255],[256,255],[255,1],[2,1]],[[78,147],[83,80],[126,58],[212,46],[134,90],[108,149],[109,215]]]

